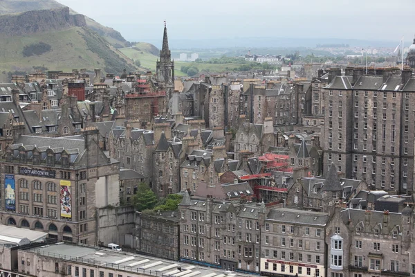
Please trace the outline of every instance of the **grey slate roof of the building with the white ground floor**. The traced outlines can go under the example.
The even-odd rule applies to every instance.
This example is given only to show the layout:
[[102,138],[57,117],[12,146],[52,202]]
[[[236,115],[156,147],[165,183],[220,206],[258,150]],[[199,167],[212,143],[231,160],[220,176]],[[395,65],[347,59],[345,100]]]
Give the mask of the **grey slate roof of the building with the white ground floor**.
[[295,210],[291,208],[271,208],[266,216],[267,221],[311,226],[326,226],[329,223],[329,219],[328,213]]

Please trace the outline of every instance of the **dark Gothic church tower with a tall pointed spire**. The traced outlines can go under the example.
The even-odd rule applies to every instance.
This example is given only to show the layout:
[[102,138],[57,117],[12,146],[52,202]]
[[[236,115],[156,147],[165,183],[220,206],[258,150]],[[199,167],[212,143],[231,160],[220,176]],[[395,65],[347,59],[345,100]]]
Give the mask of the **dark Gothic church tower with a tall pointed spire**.
[[156,64],[156,78],[158,87],[166,91],[166,98],[169,102],[167,110],[170,111],[171,103],[169,100],[172,98],[172,93],[174,92],[174,61],[172,61],[172,55],[169,50],[166,21],[163,34],[163,46],[160,51],[160,61],[157,61]]

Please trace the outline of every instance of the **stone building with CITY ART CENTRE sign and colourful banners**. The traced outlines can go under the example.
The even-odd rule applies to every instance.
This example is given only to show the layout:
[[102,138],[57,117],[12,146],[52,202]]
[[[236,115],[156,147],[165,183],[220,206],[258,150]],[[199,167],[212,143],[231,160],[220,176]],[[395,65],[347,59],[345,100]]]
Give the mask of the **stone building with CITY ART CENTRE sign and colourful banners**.
[[62,138],[20,136],[1,157],[1,224],[50,238],[96,243],[96,208],[119,202],[119,163],[100,149],[98,129]]

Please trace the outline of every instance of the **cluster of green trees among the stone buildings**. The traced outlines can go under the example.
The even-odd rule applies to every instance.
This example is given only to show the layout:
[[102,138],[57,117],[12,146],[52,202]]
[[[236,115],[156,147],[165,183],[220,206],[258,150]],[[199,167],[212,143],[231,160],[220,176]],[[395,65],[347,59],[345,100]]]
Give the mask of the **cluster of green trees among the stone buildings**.
[[180,204],[181,195],[167,195],[157,199],[156,194],[145,184],[138,184],[137,193],[133,196],[132,202],[137,211],[175,211]]

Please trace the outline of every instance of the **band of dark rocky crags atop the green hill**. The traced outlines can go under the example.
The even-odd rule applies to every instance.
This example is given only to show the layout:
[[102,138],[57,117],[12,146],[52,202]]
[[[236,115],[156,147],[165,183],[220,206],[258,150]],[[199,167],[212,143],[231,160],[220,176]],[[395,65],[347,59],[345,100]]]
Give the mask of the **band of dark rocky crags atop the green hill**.
[[83,15],[70,15],[68,7],[0,16],[2,37],[31,35],[71,27],[86,27],[86,21]]

